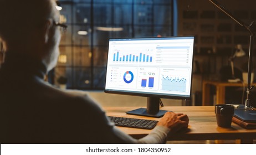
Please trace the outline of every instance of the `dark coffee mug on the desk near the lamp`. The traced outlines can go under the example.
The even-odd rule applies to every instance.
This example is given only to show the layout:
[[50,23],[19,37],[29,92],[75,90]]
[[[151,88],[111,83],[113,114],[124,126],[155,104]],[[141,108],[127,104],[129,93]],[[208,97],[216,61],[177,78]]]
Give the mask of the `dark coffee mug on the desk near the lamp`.
[[224,104],[215,105],[215,114],[219,127],[231,127],[234,106]]

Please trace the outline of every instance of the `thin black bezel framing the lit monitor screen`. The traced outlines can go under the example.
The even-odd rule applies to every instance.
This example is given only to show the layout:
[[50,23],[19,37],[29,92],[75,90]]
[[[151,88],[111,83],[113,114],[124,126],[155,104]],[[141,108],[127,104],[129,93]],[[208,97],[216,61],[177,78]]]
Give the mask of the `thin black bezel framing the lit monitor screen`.
[[[166,95],[166,94],[157,94],[157,93],[150,93],[150,92],[135,92],[135,91],[124,91],[124,90],[112,90],[112,89],[106,89],[106,80],[107,76],[105,77],[105,87],[104,92],[109,94],[118,94],[118,95],[131,95],[131,96],[142,96],[142,97],[159,97],[162,99],[180,99],[180,100],[190,100],[192,95],[192,79],[193,79],[193,60],[194,60],[194,36],[168,36],[168,37],[138,37],[138,38],[109,38],[108,41],[110,43],[110,40],[113,39],[151,39],[151,38],[157,38],[157,39],[165,39],[165,38],[191,38],[193,37],[193,53],[192,53],[192,68],[191,68],[191,86],[190,86],[190,95]],[[107,47],[107,61],[106,61],[106,73],[107,73],[107,64],[109,59],[109,43]],[[105,74],[106,75],[106,74]]]

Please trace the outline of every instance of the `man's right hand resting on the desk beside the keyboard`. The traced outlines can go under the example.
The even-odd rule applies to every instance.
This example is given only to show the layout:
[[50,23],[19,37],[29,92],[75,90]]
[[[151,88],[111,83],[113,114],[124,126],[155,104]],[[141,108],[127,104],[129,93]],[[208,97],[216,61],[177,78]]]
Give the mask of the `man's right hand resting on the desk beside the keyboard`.
[[187,128],[188,121],[189,119],[186,114],[166,112],[157,125],[170,128],[170,132],[175,133],[181,130],[181,128]]

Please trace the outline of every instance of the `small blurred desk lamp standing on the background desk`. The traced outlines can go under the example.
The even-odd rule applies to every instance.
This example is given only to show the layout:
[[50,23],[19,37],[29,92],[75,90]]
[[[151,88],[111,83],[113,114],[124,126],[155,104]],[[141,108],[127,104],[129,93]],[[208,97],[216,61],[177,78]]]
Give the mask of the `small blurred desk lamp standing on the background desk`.
[[242,57],[244,55],[245,55],[245,52],[242,49],[242,45],[238,44],[235,47],[234,55],[231,58],[229,58],[229,60],[231,61],[232,79],[228,79],[228,82],[239,82],[241,80],[241,79],[236,78],[234,75],[234,59],[238,58],[238,57]]

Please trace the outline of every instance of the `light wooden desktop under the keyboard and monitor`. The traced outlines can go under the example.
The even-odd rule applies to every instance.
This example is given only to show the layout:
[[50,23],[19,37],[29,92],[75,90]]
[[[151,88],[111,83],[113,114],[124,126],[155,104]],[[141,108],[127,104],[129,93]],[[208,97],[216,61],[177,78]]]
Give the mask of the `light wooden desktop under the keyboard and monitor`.
[[[126,111],[134,110],[135,108],[139,107],[104,107],[108,116],[144,118],[150,120],[160,119],[126,115]],[[168,106],[162,107],[161,110],[172,110],[173,112],[186,113],[190,118],[188,131],[168,136],[168,141],[240,139],[241,143],[253,143],[253,139],[256,139],[256,129],[246,130],[233,122],[231,128],[218,127],[214,113],[214,106]],[[138,128],[119,128],[134,138],[142,138],[151,132],[151,130]]]

